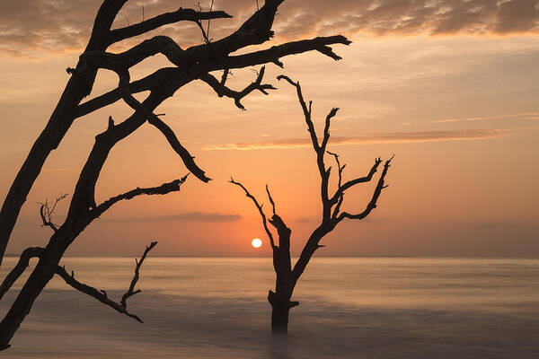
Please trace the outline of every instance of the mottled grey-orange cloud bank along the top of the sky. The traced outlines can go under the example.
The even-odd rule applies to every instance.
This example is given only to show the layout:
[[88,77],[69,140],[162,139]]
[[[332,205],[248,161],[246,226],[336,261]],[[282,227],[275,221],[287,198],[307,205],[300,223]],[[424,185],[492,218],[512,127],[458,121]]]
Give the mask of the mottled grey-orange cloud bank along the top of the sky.
[[[36,52],[81,51],[101,3],[96,0],[2,1],[0,53],[39,57]],[[274,30],[281,40],[358,32],[374,36],[539,34],[538,3],[539,0],[288,0],[279,8]],[[201,4],[208,10],[208,4]],[[177,0],[128,3],[113,28],[140,22],[143,6],[147,19],[174,11],[180,5],[192,6],[190,2]],[[234,16],[212,22],[210,36],[218,39],[234,31],[255,10],[255,2],[223,1],[215,9]],[[152,35],[157,33],[172,36],[183,46],[201,38],[197,27],[190,22],[167,25]]]

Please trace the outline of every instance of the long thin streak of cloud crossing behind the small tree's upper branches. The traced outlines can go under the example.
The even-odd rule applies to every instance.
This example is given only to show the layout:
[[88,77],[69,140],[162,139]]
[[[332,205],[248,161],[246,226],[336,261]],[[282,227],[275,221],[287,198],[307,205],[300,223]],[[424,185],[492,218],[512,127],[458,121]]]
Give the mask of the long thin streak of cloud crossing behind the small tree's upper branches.
[[[402,144],[415,142],[437,142],[478,140],[507,136],[505,129],[467,129],[454,131],[417,131],[417,132],[389,132],[371,134],[366,136],[331,136],[330,144]],[[217,144],[203,147],[205,150],[261,150],[269,148],[297,148],[310,147],[310,138],[284,138],[270,141]]]

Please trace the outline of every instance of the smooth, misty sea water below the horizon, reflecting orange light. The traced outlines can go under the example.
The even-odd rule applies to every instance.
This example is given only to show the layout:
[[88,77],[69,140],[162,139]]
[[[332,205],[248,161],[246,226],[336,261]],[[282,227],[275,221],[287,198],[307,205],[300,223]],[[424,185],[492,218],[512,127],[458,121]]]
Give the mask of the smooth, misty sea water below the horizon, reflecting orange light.
[[[63,264],[119,299],[135,261]],[[128,307],[145,324],[55,278],[0,356],[539,358],[539,259],[314,258],[286,340],[269,333],[270,258],[148,258],[139,284]]]

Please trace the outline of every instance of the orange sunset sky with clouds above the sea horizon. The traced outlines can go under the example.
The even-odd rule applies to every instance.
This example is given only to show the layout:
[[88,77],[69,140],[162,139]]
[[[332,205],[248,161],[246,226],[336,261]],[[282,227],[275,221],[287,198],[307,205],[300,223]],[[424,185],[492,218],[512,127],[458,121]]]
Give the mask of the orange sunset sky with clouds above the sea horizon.
[[[114,27],[141,21],[143,6],[147,19],[195,3],[130,1]],[[2,200],[56,106],[66,67],[75,67],[100,4],[0,3]],[[200,4],[208,10],[209,1]],[[256,1],[216,1],[214,9],[234,16],[211,22],[210,36],[219,39],[256,10]],[[206,83],[182,87],[158,112],[213,180],[205,184],[190,176],[178,193],[113,207],[68,255],[132,256],[150,241],[159,241],[159,255],[270,255],[260,215],[228,183],[230,176],[263,202],[269,183],[278,213],[292,228],[293,253],[301,250],[321,216],[320,178],[295,89],[276,79],[287,74],[314,102],[318,127],[331,107],[340,108],[330,149],[347,163],[345,180],[367,174],[377,156],[395,154],[386,177],[390,187],[376,210],[363,221],[340,223],[318,254],[539,256],[539,1],[287,0],[273,30],[275,38],[257,48],[336,34],[353,43],[332,47],[343,57],[338,62],[313,52],[281,58],[284,69],[266,66],[265,83],[278,90],[269,96],[253,92],[243,100],[246,111],[218,98]],[[169,25],[146,38],[155,34],[172,37],[182,48],[201,41],[192,23]],[[132,78],[162,66],[170,64],[155,56],[134,67]],[[229,85],[243,89],[256,77],[252,70],[235,70]],[[114,74],[100,70],[90,97],[116,85]],[[94,136],[109,116],[119,122],[130,114],[119,101],[75,120],[22,207],[7,253],[49,241],[37,202],[73,193]],[[185,173],[163,136],[145,125],[112,151],[97,200]],[[343,208],[363,210],[374,184],[350,191]],[[67,205],[65,200],[59,206],[57,223]],[[261,249],[252,249],[255,237],[264,242]]]

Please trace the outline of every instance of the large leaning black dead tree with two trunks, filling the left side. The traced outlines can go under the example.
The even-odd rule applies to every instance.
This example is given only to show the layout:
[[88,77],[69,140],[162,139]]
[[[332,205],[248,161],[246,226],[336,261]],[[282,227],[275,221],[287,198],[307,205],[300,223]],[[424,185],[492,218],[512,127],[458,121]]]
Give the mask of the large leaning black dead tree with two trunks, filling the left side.
[[[47,214],[43,212],[45,210],[43,208],[42,214],[46,219],[44,225],[48,225],[54,233],[48,245],[43,249],[32,248],[22,252],[22,263],[25,263],[26,258],[30,257],[39,257],[39,261],[26,283],[22,286],[21,292],[5,315],[4,320],[0,322],[0,348],[9,346],[15,331],[31,311],[33,302],[47,285],[50,278],[58,272],[58,263],[64,252],[93,219],[102,215],[104,211],[119,200],[130,199],[143,194],[155,195],[176,191],[179,190],[181,183],[185,180],[185,178],[173,180],[155,188],[136,188],[117,197],[111,197],[109,200],[97,205],[94,198],[95,184],[102,166],[115,144],[135,132],[138,127],[141,127],[147,121],[161,131],[169,144],[171,144],[172,149],[178,153],[182,162],[194,176],[204,182],[210,180],[194,162],[194,157],[181,145],[172,129],[155,115],[154,110],[157,106],[171,97],[183,85],[194,80],[201,80],[208,83],[219,97],[225,96],[234,99],[236,106],[243,109],[241,103],[243,97],[255,90],[267,93],[266,90],[273,89],[273,86],[262,83],[264,74],[264,67],[262,66],[253,83],[246,86],[242,91],[234,91],[226,86],[226,79],[230,69],[267,63],[283,66],[279,60],[281,57],[311,50],[317,50],[323,55],[339,60],[340,57],[333,53],[328,45],[337,43],[349,45],[350,43],[343,36],[320,37],[287,42],[271,48],[243,53],[242,55],[231,55],[239,49],[260,45],[273,36],[273,31],[271,31],[273,20],[279,4],[282,4],[284,0],[267,0],[236,31],[216,41],[209,38],[209,28],[207,27],[205,30],[201,22],[231,17],[222,11],[202,12],[201,10],[180,8],[172,13],[163,13],[137,24],[111,30],[112,22],[127,1],[104,0],[102,2],[95,17],[92,35],[84,49],[84,53],[79,57],[75,68],[68,67],[66,69],[67,74],[70,74],[71,77],[57,103],[57,107],[49,118],[47,126],[32,145],[30,153],[4,199],[4,205],[0,211],[0,264],[4,258],[4,251],[10,239],[13,226],[34,180],[39,176],[49,153],[57,148],[74,120],[119,100],[125,101],[131,109],[134,109],[133,114],[118,125],[115,125],[112,118],[109,118],[107,130],[95,137],[93,149],[76,183],[65,223],[60,226],[46,223],[48,222]],[[119,54],[106,52],[110,45],[121,40],[146,34],[146,32],[153,31],[163,25],[181,21],[195,22],[199,25],[204,38],[202,44],[183,49],[171,38],[155,36]],[[148,74],[140,80],[131,82],[129,69],[147,57],[152,57],[159,53],[167,57],[172,66],[161,68],[153,74]],[[107,69],[117,74],[119,77],[118,87],[92,100],[81,103],[84,97],[91,94],[95,76],[99,69]],[[213,71],[223,71],[220,80],[210,74]],[[137,101],[133,96],[133,93],[146,91],[149,94],[142,102]],[[11,286],[9,282],[6,285]]]

